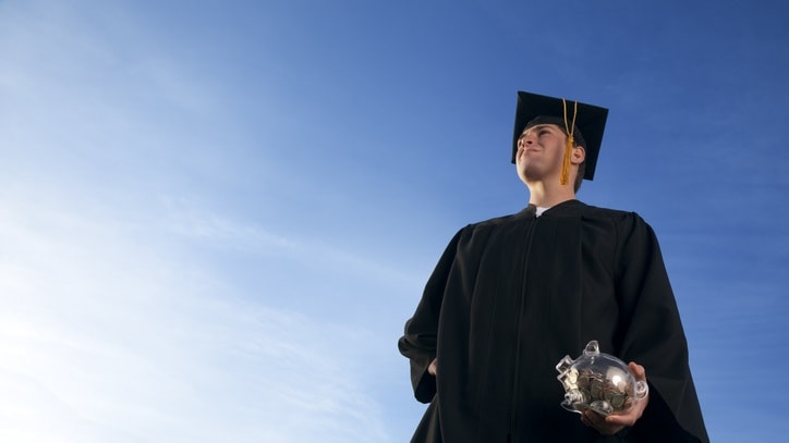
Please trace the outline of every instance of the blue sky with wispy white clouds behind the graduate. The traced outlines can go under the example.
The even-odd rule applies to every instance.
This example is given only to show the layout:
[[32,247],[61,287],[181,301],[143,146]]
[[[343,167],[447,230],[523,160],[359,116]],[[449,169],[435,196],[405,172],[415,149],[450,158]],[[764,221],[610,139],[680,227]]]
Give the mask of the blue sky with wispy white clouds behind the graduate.
[[713,441],[785,438],[786,7],[529,3],[0,1],[0,441],[408,441],[517,90],[610,108],[579,198],[656,230]]

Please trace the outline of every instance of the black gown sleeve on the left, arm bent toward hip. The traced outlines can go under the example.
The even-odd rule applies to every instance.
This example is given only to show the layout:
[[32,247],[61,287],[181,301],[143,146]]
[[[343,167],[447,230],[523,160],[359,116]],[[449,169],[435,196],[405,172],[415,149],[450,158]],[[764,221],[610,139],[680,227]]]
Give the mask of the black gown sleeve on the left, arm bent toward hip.
[[444,291],[462,232],[463,230],[459,231],[449,242],[425,285],[422,300],[417,305],[414,316],[405,322],[404,334],[398,341],[400,353],[408,357],[411,364],[411,383],[414,396],[422,403],[429,403],[436,394],[436,378],[427,372],[427,367],[436,358],[438,320]]

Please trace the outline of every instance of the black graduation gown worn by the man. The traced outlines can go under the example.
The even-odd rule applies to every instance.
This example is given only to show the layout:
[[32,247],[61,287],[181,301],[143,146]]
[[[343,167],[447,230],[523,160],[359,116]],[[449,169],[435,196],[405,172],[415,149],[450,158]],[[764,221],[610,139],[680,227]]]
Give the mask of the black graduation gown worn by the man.
[[[556,365],[591,340],[646,369],[647,409],[618,435],[559,405]],[[398,345],[430,403],[413,442],[708,442],[657,238],[633,212],[570,200],[463,227]]]

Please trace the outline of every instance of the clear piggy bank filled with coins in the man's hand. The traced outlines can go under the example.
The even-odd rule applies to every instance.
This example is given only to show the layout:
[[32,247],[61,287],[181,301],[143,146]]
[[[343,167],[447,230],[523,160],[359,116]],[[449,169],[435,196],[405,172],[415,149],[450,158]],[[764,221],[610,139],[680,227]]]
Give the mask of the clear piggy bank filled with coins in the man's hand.
[[556,370],[565,386],[561,406],[573,413],[592,409],[604,416],[626,414],[650,392],[646,382],[636,381],[624,361],[600,353],[594,340],[576,359],[565,356]]

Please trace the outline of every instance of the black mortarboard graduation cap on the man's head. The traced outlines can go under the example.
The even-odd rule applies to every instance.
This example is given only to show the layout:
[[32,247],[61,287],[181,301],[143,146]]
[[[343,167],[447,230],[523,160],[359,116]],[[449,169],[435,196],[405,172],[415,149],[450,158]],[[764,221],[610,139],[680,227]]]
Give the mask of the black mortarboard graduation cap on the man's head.
[[597,164],[597,155],[600,151],[608,110],[581,102],[578,103],[576,108],[576,102],[572,100],[518,91],[515,131],[512,138],[512,162],[515,162],[518,139],[523,134],[523,130],[537,124],[551,123],[567,132],[566,127],[570,127],[572,124],[573,114],[575,120],[573,130],[575,144],[582,145],[586,150],[586,167],[583,177],[592,180]]

